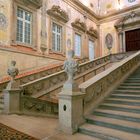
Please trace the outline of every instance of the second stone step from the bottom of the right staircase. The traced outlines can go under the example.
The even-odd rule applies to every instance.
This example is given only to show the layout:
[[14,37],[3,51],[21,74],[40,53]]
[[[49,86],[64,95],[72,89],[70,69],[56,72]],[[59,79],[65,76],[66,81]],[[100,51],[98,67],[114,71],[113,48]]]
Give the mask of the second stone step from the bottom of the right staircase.
[[108,127],[140,135],[140,123],[138,122],[130,122],[126,120],[107,118],[95,115],[88,116],[86,120],[90,124],[95,124],[98,126]]

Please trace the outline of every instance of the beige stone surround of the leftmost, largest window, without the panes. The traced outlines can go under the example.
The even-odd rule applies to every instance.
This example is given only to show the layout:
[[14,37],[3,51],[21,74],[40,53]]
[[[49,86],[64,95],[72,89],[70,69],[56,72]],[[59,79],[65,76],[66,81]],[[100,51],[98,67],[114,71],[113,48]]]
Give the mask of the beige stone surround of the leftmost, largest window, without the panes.
[[[25,11],[28,11],[32,13],[32,26],[31,26],[31,31],[32,31],[32,39],[31,39],[31,44],[27,43],[22,43],[17,41],[17,9],[20,7],[21,9],[24,9]],[[23,47],[28,47],[33,50],[37,50],[37,44],[38,44],[38,24],[37,24],[37,9],[33,8],[32,6],[25,6],[23,2],[20,1],[14,1],[13,2],[13,8],[11,12],[11,34],[10,34],[10,44],[12,46],[23,46]],[[15,26],[16,25],[16,26]]]

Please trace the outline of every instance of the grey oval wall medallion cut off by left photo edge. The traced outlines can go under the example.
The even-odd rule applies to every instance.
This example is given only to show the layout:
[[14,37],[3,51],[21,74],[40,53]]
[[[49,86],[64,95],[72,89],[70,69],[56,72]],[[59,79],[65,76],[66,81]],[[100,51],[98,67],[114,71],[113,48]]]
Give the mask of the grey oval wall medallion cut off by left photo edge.
[[4,14],[0,13],[0,29],[4,30],[7,28],[7,18]]

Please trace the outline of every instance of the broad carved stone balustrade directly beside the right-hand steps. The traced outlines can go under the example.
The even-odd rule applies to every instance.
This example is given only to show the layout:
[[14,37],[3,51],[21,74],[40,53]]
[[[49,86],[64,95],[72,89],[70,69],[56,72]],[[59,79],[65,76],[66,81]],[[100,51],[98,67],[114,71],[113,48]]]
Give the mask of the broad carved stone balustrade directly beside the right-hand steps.
[[82,83],[79,87],[81,92],[86,94],[84,98],[85,114],[93,111],[120,82],[130,75],[138,67],[139,61],[140,51],[114,64],[102,74]]

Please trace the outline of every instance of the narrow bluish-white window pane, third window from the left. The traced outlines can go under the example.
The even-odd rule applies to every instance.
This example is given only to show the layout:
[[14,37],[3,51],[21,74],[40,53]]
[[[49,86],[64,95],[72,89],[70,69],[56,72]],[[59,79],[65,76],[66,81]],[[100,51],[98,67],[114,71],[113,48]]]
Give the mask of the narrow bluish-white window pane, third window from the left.
[[75,34],[75,56],[81,56],[81,35]]

